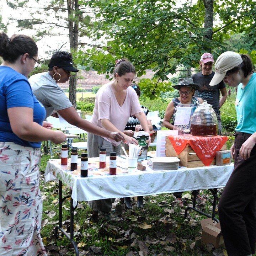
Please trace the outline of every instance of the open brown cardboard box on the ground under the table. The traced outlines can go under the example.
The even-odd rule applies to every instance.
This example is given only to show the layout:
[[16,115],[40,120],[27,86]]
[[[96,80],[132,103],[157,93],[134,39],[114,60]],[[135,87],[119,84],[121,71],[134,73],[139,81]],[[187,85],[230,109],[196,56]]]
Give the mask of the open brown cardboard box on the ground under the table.
[[216,248],[224,246],[224,240],[220,229],[220,223],[213,223],[211,218],[201,220],[202,238],[201,244],[207,246],[213,244]]

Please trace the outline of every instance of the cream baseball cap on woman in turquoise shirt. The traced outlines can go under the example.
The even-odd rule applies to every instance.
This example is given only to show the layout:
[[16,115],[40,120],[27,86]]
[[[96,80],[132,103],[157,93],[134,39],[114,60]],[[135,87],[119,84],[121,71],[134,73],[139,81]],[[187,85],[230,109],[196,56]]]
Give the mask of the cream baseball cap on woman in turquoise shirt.
[[239,66],[241,63],[242,58],[239,53],[224,52],[220,54],[215,63],[215,74],[212,81],[210,81],[210,85],[217,85],[223,80],[228,70]]

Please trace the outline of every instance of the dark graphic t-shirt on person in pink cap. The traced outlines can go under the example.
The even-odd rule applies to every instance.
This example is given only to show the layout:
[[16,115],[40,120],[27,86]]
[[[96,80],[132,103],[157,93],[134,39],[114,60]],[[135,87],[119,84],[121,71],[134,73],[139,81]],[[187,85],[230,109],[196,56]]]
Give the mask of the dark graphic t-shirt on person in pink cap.
[[225,84],[223,81],[219,82],[219,84],[210,86],[210,81],[214,76],[214,72],[210,75],[203,75],[202,71],[193,74],[191,78],[194,81],[194,84],[199,85],[200,89],[195,91],[194,96],[198,98],[202,98],[206,100],[207,103],[213,106],[213,109],[216,114],[220,114],[219,111],[219,98],[220,98],[220,89],[225,88]]

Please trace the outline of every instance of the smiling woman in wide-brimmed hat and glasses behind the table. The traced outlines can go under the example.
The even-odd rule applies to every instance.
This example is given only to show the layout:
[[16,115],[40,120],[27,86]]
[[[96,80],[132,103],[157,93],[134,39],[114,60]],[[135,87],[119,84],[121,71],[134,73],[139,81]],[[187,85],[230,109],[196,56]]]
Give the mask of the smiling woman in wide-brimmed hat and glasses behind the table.
[[[178,90],[178,94],[180,97],[174,98],[171,100],[171,102],[168,104],[165,116],[163,119],[163,125],[170,129],[174,129],[174,122],[177,112],[177,106],[179,104],[193,104],[194,106],[198,106],[199,103],[203,103],[203,100],[201,98],[194,97],[194,91],[199,89],[199,86],[194,84],[192,78],[180,78],[178,80],[177,85],[173,85],[175,89]],[[170,123],[170,120],[172,118],[172,122]],[[178,128],[180,129],[189,129],[189,124],[186,125],[180,125]],[[181,194],[183,192],[176,192],[174,193],[174,196],[176,197],[176,200],[174,203],[178,204],[179,206],[183,206]]]

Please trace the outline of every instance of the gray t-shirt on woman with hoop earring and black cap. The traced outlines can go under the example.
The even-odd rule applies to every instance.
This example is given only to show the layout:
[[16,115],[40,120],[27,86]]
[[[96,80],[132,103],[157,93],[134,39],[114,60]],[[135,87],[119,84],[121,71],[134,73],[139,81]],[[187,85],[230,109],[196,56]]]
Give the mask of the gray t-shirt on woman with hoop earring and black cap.
[[73,106],[65,92],[48,72],[32,75],[28,81],[36,98],[46,108],[46,117],[51,116],[54,110],[63,110]]

